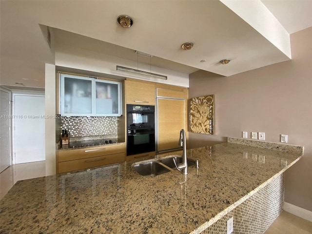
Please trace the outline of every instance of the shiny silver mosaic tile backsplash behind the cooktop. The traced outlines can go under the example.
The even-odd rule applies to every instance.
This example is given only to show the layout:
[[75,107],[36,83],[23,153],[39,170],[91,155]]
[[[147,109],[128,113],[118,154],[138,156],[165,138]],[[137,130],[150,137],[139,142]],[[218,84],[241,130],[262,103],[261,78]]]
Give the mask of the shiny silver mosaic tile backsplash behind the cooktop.
[[[61,117],[61,129],[70,137],[117,135],[117,117]],[[59,133],[61,133],[61,129]]]

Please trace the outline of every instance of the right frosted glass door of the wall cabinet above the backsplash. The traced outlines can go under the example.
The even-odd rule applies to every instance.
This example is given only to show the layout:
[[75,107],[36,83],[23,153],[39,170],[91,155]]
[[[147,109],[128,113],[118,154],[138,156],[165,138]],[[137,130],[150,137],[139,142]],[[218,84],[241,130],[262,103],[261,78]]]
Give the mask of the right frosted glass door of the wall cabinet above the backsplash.
[[96,80],[96,115],[120,114],[120,82]]

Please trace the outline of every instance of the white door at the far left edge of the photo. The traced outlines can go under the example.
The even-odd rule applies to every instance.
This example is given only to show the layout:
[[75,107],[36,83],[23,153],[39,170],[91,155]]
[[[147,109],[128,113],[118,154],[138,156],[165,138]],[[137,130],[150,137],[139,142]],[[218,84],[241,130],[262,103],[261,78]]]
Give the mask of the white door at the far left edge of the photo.
[[11,165],[10,158],[10,97],[11,94],[0,90],[0,172]]

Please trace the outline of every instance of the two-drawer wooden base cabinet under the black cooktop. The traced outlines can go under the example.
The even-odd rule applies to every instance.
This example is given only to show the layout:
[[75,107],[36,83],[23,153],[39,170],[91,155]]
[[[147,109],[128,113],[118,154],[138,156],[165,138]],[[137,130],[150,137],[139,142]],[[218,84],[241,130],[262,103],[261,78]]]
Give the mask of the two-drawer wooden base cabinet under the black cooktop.
[[125,160],[125,144],[105,145],[58,152],[58,173],[98,167]]

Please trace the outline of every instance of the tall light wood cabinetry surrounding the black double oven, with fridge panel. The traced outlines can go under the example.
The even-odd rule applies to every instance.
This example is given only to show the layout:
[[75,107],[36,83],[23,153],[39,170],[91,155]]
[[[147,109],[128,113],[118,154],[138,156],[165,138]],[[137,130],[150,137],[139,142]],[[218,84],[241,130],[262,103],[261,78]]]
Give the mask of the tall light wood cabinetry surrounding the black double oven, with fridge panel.
[[[181,148],[178,145],[180,130],[184,129],[188,137],[187,88],[127,78],[125,99],[126,104],[155,105],[157,154]],[[127,129],[127,126],[125,128]],[[127,136],[127,131],[125,136]],[[126,160],[154,156],[154,152],[152,153],[153,155],[146,153],[127,156]]]

